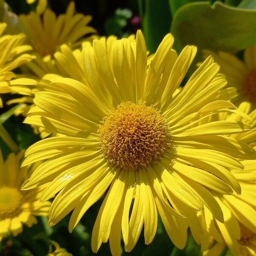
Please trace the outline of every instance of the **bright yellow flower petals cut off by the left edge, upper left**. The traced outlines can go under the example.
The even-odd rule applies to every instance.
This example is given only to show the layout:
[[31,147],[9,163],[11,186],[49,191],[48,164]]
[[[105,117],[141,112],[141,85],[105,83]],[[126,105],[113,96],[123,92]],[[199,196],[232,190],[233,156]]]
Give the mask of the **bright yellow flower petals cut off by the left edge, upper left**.
[[[25,35],[3,35],[6,23],[0,23],[0,93],[23,93],[29,94],[29,85],[35,83],[32,79],[13,79],[15,73],[12,72],[21,64],[32,60],[33,56],[24,53],[32,48],[23,45]],[[26,87],[28,86],[28,87]],[[2,101],[0,99],[0,107]]]

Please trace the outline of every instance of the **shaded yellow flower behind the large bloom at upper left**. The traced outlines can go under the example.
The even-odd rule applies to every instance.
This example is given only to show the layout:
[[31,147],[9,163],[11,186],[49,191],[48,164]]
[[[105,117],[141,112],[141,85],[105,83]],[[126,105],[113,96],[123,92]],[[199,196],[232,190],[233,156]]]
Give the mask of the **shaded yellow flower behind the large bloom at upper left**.
[[46,9],[42,15],[30,12],[28,15],[20,15],[19,18],[37,56],[28,67],[40,78],[46,73],[58,73],[52,56],[59,46],[65,43],[73,48],[79,47],[84,35],[96,32],[87,26],[91,16],[75,14],[73,1],[67,7],[66,13],[58,17],[50,9]]

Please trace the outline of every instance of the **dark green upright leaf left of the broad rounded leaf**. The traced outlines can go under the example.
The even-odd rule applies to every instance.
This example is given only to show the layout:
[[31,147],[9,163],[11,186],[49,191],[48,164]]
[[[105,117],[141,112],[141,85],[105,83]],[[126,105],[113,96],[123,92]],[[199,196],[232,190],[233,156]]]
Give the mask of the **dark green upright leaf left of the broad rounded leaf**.
[[139,0],[139,9],[147,49],[153,53],[170,29],[169,0]]

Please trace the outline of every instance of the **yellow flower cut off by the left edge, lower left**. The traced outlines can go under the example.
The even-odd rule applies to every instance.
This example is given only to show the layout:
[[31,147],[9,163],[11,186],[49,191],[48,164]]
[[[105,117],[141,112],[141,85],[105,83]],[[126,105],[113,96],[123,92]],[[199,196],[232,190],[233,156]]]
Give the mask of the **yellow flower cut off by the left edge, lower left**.
[[22,232],[22,224],[31,227],[37,223],[35,216],[46,216],[49,212],[50,202],[39,202],[43,188],[20,190],[29,177],[29,170],[20,168],[23,154],[11,153],[4,162],[0,152],[0,240],[9,231],[17,236]]

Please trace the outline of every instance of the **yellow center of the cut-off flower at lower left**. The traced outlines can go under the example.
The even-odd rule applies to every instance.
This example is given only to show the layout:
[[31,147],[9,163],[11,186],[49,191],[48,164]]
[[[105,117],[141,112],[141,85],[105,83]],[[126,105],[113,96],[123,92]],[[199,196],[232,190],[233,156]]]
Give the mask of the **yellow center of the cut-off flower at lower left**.
[[21,209],[22,195],[17,189],[3,186],[0,188],[0,220],[17,216]]

